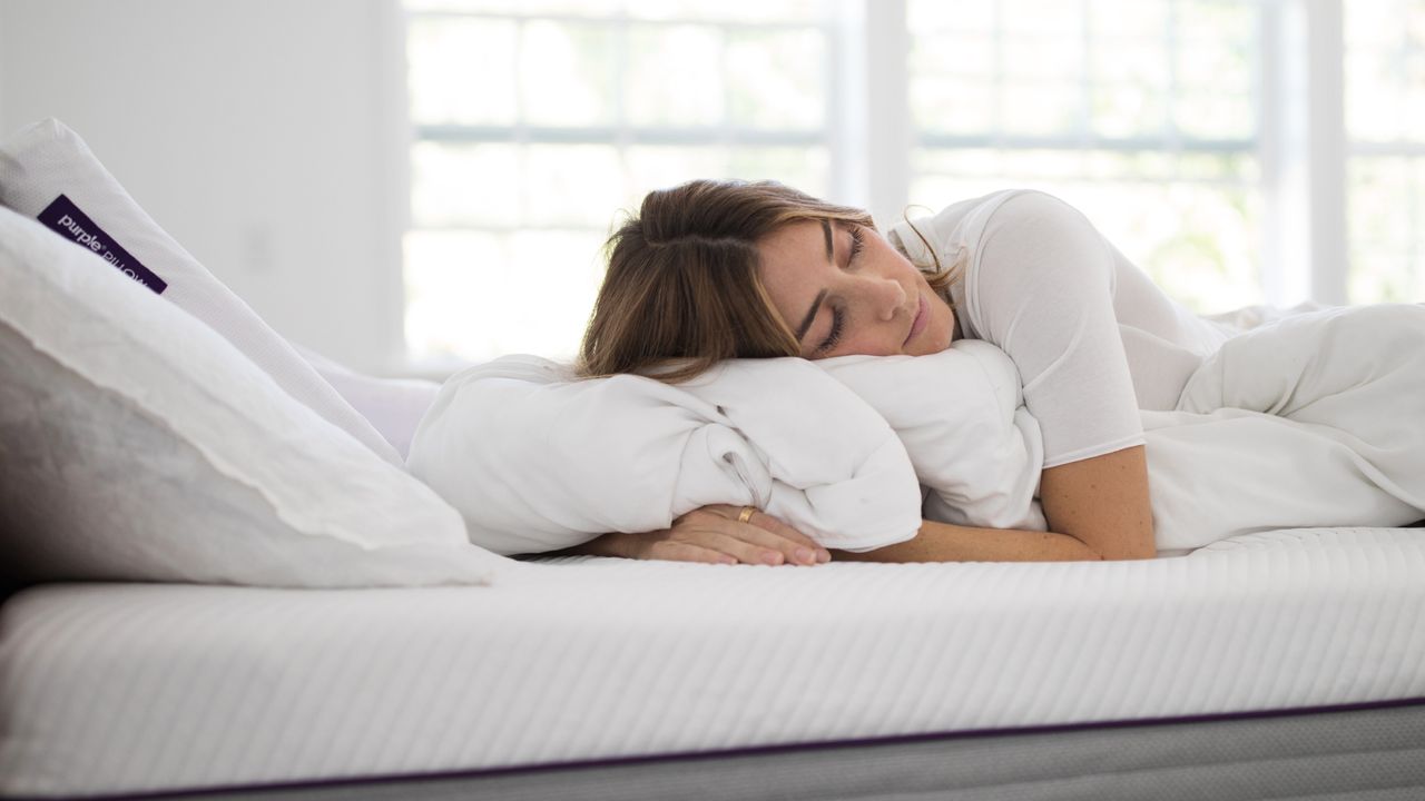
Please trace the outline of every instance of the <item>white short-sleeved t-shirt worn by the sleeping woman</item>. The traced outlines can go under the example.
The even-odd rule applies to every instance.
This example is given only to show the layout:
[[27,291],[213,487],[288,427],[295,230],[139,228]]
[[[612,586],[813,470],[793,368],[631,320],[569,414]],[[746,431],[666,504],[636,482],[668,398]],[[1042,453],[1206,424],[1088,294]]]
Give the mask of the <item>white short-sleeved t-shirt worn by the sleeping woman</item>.
[[[915,229],[912,229],[912,225]],[[1139,409],[1171,409],[1233,328],[1173,302],[1077,210],[1036,191],[962,201],[889,231],[916,264],[965,254],[950,288],[959,335],[1019,366],[1045,467],[1143,443]]]

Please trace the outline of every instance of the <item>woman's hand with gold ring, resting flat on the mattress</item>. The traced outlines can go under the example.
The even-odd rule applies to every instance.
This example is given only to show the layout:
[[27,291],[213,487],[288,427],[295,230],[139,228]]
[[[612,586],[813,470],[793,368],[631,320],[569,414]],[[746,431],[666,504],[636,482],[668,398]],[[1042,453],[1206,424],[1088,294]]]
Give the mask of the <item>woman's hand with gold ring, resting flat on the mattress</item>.
[[703,506],[678,517],[668,529],[604,534],[571,552],[710,564],[819,564],[831,560],[831,552],[771,515],[751,510],[747,522],[740,522],[744,509],[751,507]]

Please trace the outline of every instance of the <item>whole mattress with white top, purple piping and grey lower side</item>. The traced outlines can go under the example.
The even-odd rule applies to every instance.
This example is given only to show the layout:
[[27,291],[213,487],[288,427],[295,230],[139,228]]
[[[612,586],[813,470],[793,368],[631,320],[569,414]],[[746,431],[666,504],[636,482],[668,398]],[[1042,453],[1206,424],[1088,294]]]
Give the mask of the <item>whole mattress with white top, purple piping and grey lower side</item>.
[[46,584],[4,797],[1419,798],[1425,532],[1097,564]]

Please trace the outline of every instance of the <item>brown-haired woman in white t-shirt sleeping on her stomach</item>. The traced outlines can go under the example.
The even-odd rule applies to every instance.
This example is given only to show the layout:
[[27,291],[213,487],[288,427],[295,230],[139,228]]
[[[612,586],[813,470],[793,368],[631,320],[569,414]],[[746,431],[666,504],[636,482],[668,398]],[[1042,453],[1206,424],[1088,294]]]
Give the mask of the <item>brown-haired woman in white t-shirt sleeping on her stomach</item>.
[[[1425,306],[1411,309],[1419,319],[1406,328],[1425,348]],[[1234,334],[1173,302],[1082,214],[1042,192],[998,192],[882,234],[864,211],[779,184],[694,181],[648,194],[610,238],[580,369],[677,382],[731,358],[929,355],[960,338],[990,342],[1013,361],[1040,425],[1049,530],[925,520],[911,540],[836,559],[1147,559],[1156,540],[1141,410],[1173,409]],[[1405,416],[1419,429],[1416,406]],[[734,506],[577,552],[831,557],[781,520]]]

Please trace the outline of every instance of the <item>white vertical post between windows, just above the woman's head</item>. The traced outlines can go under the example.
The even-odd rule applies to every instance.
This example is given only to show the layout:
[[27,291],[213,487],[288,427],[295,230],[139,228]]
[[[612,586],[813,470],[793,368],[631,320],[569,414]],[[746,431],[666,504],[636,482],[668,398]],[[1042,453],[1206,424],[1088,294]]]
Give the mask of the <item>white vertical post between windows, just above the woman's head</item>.
[[911,34],[905,0],[861,0],[865,9],[866,208],[898,222],[911,197]]

